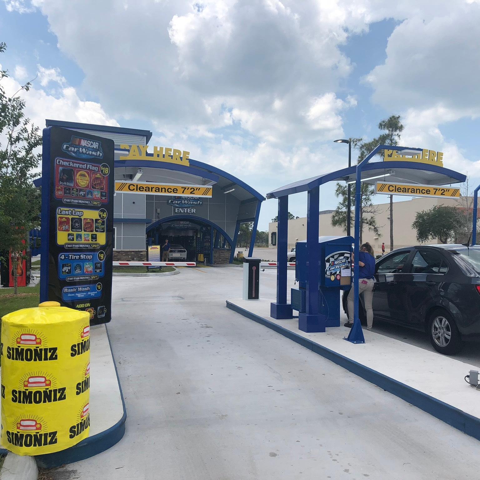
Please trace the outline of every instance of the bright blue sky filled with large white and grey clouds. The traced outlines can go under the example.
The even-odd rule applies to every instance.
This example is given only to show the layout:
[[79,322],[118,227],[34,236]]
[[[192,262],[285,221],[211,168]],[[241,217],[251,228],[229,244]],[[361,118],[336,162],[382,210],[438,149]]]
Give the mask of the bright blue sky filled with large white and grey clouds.
[[[0,0],[0,63],[11,91],[37,75],[40,127],[149,129],[263,194],[345,166],[333,140],[391,114],[402,145],[443,151],[477,185],[479,24],[479,0]],[[336,203],[324,187],[321,208]],[[304,216],[306,195],[289,210]]]

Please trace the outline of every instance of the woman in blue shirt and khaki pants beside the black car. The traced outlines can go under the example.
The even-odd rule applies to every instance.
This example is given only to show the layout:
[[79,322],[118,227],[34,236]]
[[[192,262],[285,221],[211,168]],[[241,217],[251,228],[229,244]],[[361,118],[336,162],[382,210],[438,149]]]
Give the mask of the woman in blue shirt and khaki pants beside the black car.
[[[353,256],[352,256],[353,259]],[[373,256],[373,249],[370,243],[364,243],[360,247],[359,254],[359,294],[363,292],[363,304],[365,305],[365,311],[367,312],[367,330],[372,330],[373,326],[373,310],[372,310],[372,300],[373,300],[373,286],[374,286],[374,275],[375,275],[375,257]],[[348,307],[348,322],[345,324],[346,327],[351,327],[353,325],[353,300],[354,300],[355,290],[350,288],[347,298],[347,307]]]

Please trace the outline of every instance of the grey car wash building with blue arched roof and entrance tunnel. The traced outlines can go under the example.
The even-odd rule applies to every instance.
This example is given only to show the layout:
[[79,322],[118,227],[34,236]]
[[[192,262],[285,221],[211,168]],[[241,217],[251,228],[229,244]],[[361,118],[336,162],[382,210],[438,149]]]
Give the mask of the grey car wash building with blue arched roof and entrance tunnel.
[[[146,260],[149,245],[168,239],[170,254],[178,253],[173,258],[226,264],[233,261],[240,224],[253,222],[255,234],[264,197],[178,145],[147,146],[147,130],[57,120],[46,120],[46,126],[70,129],[75,138],[84,132],[115,142],[114,260]],[[101,194],[95,185],[82,192],[71,173],[70,193]]]

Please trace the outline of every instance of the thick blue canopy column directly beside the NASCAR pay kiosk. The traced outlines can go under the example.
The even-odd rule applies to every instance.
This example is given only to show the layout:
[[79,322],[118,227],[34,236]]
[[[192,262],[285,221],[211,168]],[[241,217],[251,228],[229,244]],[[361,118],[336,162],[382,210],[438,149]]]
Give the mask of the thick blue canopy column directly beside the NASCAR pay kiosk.
[[308,191],[307,196],[307,292],[305,312],[299,313],[299,330],[324,332],[325,315],[318,308],[318,271],[320,247],[318,244],[318,210],[320,187]]

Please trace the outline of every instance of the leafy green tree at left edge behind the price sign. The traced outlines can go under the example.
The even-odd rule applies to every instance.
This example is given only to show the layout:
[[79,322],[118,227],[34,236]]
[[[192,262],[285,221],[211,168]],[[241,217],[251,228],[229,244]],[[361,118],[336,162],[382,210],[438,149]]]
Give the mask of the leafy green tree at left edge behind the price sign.
[[[7,48],[0,43],[0,53]],[[8,77],[0,71],[0,253],[11,254],[13,260],[23,258],[29,231],[40,223],[40,192],[33,184],[41,154],[39,128],[25,118],[25,101],[20,92],[28,92],[31,83],[20,87],[13,95],[5,92],[1,81]],[[10,252],[10,253],[9,253]],[[7,255],[0,261],[8,262]],[[17,294],[17,269],[13,268],[13,287]]]

